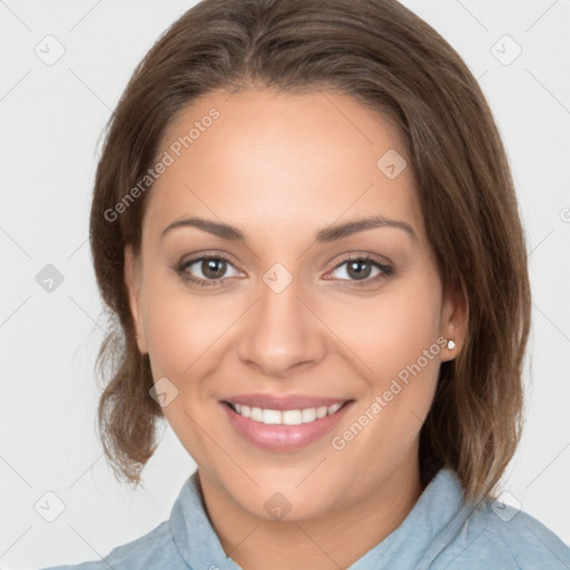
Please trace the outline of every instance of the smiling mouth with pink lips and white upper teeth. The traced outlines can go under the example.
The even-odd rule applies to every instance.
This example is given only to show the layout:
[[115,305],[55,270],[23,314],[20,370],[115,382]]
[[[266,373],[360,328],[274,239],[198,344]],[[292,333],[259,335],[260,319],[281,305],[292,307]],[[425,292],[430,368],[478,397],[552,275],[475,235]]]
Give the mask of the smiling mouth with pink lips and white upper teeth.
[[[341,422],[355,400],[248,399],[258,405],[247,405],[246,397],[219,401],[233,431],[243,442],[268,451],[295,451],[309,445],[331,432]],[[255,402],[252,402],[255,400]],[[262,401],[267,402],[262,406]],[[323,404],[323,405],[316,405]]]

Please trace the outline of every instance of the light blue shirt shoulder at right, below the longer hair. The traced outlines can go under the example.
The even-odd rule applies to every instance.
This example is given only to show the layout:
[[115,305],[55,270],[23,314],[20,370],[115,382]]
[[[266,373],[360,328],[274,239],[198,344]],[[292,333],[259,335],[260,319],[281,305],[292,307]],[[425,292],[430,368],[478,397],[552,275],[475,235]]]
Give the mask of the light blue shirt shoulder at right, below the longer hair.
[[448,570],[480,568],[482,561],[512,570],[570,569],[570,547],[557,534],[529,513],[491,498],[470,509],[446,550],[438,562]]

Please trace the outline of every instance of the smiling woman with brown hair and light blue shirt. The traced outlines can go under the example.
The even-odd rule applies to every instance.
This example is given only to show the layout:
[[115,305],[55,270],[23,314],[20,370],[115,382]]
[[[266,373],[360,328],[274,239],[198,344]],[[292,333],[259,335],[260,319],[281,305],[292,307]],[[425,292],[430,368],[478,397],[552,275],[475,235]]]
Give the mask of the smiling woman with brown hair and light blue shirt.
[[493,493],[530,326],[504,149],[397,2],[186,12],[112,116],[90,237],[106,453],[138,483],[164,416],[198,469],[73,568],[570,567]]

